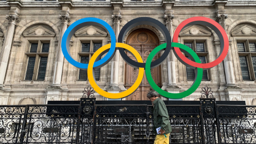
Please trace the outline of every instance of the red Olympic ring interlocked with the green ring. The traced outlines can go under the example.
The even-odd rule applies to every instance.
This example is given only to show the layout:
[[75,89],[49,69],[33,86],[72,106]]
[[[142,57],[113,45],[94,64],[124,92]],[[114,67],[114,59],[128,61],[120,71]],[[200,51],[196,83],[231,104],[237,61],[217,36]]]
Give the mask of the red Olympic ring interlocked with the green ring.
[[228,41],[228,36],[226,31],[219,25],[218,22],[205,18],[205,17],[193,17],[189,18],[183,22],[180,23],[180,25],[177,27],[177,29],[174,32],[173,35],[173,42],[178,43],[178,37],[180,34],[180,31],[190,25],[204,25],[209,28],[211,28],[215,33],[218,35],[220,39],[220,54],[218,58],[212,62],[209,63],[198,63],[191,61],[183,55],[179,49],[179,47],[174,47],[174,54],[177,57],[177,59],[183,63],[183,65],[195,69],[196,67],[198,68],[203,68],[205,69],[210,69],[212,67],[217,66],[221,61],[223,61],[228,54],[228,48],[229,48],[229,41]]

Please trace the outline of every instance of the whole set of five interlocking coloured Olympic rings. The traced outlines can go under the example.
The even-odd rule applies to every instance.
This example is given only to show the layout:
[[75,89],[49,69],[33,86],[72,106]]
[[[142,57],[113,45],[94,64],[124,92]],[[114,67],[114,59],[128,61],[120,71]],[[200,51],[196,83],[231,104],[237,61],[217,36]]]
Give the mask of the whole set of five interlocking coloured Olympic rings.
[[[219,36],[220,39],[220,45],[221,45],[221,51],[218,56],[218,58],[210,63],[201,63],[200,59],[198,58],[197,54],[191,50],[188,46],[185,46],[183,44],[178,43],[178,37],[180,31],[190,25],[204,25],[207,27],[210,27],[215,33]],[[89,64],[80,63],[75,61],[73,58],[71,58],[70,52],[69,52],[69,42],[71,37],[74,35],[75,31],[78,29],[88,26],[88,25],[96,25],[96,26],[103,26],[106,30],[109,31],[110,37],[111,37],[111,44],[104,45],[100,47],[93,55],[91,60],[89,61]],[[162,34],[165,37],[165,44],[157,46],[148,56],[148,59],[146,63],[143,63],[142,58],[140,57],[140,54],[138,51],[133,49],[130,45],[123,44],[123,39],[127,32],[131,30],[133,27],[138,25],[150,25],[155,28],[157,28],[159,31],[162,32]],[[172,48],[174,47],[174,49]],[[122,28],[122,30],[119,33],[118,36],[118,43],[116,43],[115,33],[113,29],[108,25],[107,22],[97,19],[97,18],[84,18],[81,20],[78,20],[74,22],[72,25],[68,27],[68,29],[65,31],[62,42],[61,42],[62,52],[64,57],[75,67],[81,68],[81,69],[87,69],[87,75],[90,81],[91,86],[94,88],[94,90],[102,95],[103,97],[110,98],[110,99],[119,99],[124,98],[132,94],[134,91],[136,91],[142,81],[143,78],[143,69],[146,71],[146,77],[148,79],[149,84],[155,91],[157,91],[159,94],[163,95],[163,97],[171,98],[171,99],[180,99],[185,98],[191,93],[195,92],[198,86],[200,85],[203,77],[203,70],[212,68],[216,65],[218,65],[223,59],[226,57],[229,49],[229,41],[228,36],[226,34],[226,31],[219,25],[219,23],[204,17],[194,17],[189,18],[183,22],[180,23],[180,25],[175,30],[174,36],[173,36],[173,43],[171,42],[171,36],[167,28],[163,25],[163,23],[153,19],[153,18],[137,18],[133,19],[126,23],[126,25]],[[119,48],[118,48],[119,47]],[[109,93],[104,90],[102,90],[96,83],[95,77],[94,77],[94,69],[100,68],[104,65],[106,65],[113,57],[116,52],[116,50],[119,49],[119,52],[121,56],[123,57],[124,61],[131,65],[134,68],[139,68],[139,74],[137,77],[137,80],[135,83],[130,87],[130,89],[121,92],[121,93]],[[167,57],[167,55],[170,53],[170,51],[173,50],[175,56],[178,60],[180,60],[183,65],[186,65],[190,68],[195,69],[196,77],[194,79],[194,83],[191,85],[191,87],[184,92],[181,93],[169,93],[161,88],[159,88],[156,83],[154,82],[150,69],[155,68],[164,61],[164,59]],[[137,61],[133,61],[131,58],[129,58],[125,51],[131,53],[134,55],[134,57],[137,59]],[[155,55],[161,51],[164,51],[162,56],[158,58],[157,60],[151,62]],[[188,55],[188,57],[191,59],[185,57],[185,55],[182,54],[185,53]],[[101,56],[105,54],[105,57],[103,57],[101,60]]]

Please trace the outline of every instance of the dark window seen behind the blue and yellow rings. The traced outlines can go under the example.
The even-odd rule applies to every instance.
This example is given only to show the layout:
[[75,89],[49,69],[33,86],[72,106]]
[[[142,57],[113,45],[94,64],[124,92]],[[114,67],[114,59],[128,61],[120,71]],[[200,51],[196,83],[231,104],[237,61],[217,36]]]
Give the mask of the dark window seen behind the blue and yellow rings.
[[[82,50],[79,53],[81,63],[89,63],[94,52],[102,46],[102,41],[81,41]],[[95,80],[100,80],[100,68],[94,70]],[[87,81],[87,70],[79,69],[78,81]]]

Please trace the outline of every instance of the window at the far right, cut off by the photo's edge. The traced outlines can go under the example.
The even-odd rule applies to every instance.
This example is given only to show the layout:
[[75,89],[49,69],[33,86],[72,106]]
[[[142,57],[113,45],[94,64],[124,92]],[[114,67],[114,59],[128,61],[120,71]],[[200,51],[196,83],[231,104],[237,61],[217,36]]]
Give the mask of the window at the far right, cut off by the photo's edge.
[[256,41],[238,40],[237,51],[243,80],[256,79]]

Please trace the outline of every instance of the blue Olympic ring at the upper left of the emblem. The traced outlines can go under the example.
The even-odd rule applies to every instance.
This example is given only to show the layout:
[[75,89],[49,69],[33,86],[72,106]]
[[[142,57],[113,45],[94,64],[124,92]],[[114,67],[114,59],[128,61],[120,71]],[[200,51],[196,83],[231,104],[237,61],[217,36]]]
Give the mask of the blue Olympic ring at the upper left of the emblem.
[[75,34],[75,32],[78,29],[84,26],[90,26],[90,25],[100,26],[104,28],[105,30],[108,31],[111,38],[111,47],[108,53],[105,55],[105,57],[96,61],[93,65],[93,68],[99,68],[107,64],[111,60],[111,58],[114,57],[114,54],[116,52],[116,36],[115,36],[114,30],[108,25],[107,22],[98,18],[83,18],[83,19],[77,20],[67,28],[67,30],[63,34],[62,41],[61,41],[61,49],[64,57],[67,59],[68,62],[71,63],[71,65],[77,68],[87,69],[88,63],[77,62],[71,57],[70,51],[69,51],[69,42],[71,37]]

